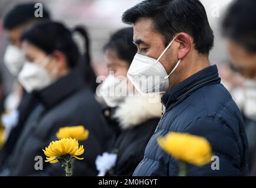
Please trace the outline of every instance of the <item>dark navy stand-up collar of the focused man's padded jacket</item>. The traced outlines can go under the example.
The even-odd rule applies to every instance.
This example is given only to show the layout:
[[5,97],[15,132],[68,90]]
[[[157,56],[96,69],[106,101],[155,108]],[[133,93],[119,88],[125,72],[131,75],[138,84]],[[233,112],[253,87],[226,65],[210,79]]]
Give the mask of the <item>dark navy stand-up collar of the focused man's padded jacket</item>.
[[176,102],[181,102],[194,90],[197,90],[205,85],[220,83],[220,81],[221,79],[218,76],[217,66],[208,66],[207,68],[200,70],[200,72],[195,73],[178,85],[174,86],[174,88],[162,96],[161,101],[165,105],[165,109],[168,110],[169,108],[174,107],[175,104],[177,104]]

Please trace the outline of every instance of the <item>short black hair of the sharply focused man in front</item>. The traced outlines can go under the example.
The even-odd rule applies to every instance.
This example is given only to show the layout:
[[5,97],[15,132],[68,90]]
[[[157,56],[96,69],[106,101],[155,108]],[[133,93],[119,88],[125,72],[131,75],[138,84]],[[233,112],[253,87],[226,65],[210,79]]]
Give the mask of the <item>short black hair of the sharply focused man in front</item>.
[[185,32],[194,39],[195,49],[208,54],[214,45],[214,35],[204,6],[198,0],[146,0],[122,15],[125,24],[149,18],[161,33],[167,46],[176,33]]

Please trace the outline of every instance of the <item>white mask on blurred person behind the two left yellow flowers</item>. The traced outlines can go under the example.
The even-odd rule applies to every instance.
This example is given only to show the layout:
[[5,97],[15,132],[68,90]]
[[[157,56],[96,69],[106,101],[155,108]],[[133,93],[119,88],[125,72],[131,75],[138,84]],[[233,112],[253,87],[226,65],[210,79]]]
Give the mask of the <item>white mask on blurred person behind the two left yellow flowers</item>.
[[[47,56],[41,65],[33,62],[26,62],[18,75],[19,83],[24,87],[26,92],[31,93],[34,90],[41,90],[51,85],[54,81],[45,66],[49,63],[50,58]],[[54,70],[56,73],[56,69]]]

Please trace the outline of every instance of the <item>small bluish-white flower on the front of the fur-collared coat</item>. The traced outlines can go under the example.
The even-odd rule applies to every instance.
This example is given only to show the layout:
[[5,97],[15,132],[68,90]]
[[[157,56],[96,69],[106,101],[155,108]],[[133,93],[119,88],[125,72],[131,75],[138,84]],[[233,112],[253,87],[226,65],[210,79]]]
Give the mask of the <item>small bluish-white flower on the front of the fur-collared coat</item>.
[[109,169],[115,166],[117,161],[117,154],[115,153],[103,153],[99,155],[95,161],[97,170],[99,171],[98,176],[105,176]]

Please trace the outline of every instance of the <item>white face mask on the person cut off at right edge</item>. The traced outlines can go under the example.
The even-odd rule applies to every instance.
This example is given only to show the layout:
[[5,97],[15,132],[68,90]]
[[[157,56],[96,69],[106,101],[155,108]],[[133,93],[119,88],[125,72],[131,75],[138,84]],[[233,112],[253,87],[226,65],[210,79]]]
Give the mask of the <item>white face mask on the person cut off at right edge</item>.
[[245,81],[245,103],[244,115],[249,119],[256,120],[256,82],[254,80]]

